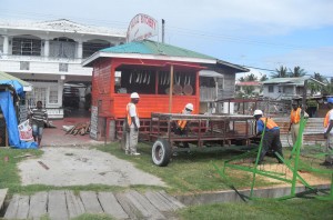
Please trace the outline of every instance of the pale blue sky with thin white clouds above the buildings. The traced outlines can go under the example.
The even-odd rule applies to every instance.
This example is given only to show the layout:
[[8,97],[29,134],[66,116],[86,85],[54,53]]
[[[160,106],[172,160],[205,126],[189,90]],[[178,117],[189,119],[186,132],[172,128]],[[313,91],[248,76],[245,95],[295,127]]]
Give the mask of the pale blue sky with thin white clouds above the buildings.
[[299,66],[311,76],[333,77],[333,0],[0,0],[0,6],[1,20],[68,19],[123,30],[145,13],[160,29],[165,20],[165,43],[251,73],[270,77],[280,66]]

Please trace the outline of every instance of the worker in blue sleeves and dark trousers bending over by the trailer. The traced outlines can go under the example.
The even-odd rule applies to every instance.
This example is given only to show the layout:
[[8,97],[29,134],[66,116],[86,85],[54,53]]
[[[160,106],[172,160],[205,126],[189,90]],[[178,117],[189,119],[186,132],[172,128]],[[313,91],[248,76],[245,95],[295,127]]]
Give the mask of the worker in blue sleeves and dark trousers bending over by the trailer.
[[278,152],[280,157],[283,158],[279,126],[273,121],[273,119],[264,118],[261,110],[255,110],[253,117],[256,120],[256,136],[263,133],[264,124],[266,124],[258,164],[263,163],[263,159],[269,151],[273,151],[279,163],[283,163],[283,161],[275,154],[275,152]]

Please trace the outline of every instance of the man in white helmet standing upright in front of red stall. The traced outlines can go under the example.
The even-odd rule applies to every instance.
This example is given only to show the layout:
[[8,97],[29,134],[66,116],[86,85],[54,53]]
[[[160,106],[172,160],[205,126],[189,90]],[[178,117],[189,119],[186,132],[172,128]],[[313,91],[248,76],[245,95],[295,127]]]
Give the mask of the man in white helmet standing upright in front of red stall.
[[137,151],[140,120],[137,109],[139,103],[139,94],[137,92],[131,93],[131,101],[127,106],[127,118],[125,118],[125,132],[127,132],[127,144],[125,154],[140,156]]

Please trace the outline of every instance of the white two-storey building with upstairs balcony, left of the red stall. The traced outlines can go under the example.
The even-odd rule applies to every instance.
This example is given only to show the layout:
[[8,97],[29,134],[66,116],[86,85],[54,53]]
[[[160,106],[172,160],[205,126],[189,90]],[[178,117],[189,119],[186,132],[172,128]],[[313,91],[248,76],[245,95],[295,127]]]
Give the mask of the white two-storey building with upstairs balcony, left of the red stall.
[[27,104],[41,100],[50,118],[62,118],[64,83],[91,82],[92,68],[82,68],[82,60],[123,42],[125,30],[88,27],[64,19],[0,21],[0,71],[33,84],[33,91],[27,93]]

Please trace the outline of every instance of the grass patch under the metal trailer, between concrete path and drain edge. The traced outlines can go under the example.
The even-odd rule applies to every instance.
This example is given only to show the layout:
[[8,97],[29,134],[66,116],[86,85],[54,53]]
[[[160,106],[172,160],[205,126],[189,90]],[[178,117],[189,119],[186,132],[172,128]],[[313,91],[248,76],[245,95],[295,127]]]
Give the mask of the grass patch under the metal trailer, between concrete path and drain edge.
[[[141,153],[139,157],[124,154],[119,143],[101,146],[98,149],[110,152],[120,159],[131,161],[137,168],[161,178],[170,186],[167,191],[171,193],[195,193],[230,189],[228,182],[221,179],[212,163],[222,168],[225,160],[242,153],[234,150],[200,150],[199,148],[193,148],[191,153],[179,152],[176,157],[172,158],[168,167],[158,167],[152,162],[151,146],[149,144],[139,144],[138,151]],[[232,170],[232,172],[234,174],[231,177],[231,182],[233,182],[236,188],[242,189],[251,186],[252,173],[239,170]],[[271,184],[273,183],[258,178],[255,186],[263,187]]]

